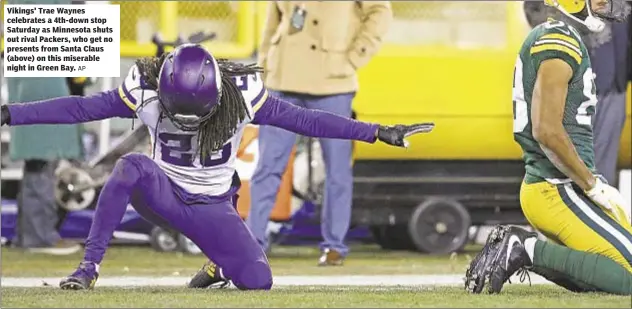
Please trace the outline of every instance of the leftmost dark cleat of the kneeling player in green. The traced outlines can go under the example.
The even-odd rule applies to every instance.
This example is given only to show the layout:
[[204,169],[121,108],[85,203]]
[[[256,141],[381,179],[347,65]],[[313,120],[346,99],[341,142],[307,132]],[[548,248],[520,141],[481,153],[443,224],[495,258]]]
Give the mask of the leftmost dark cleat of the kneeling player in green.
[[496,233],[498,233],[496,228],[489,233],[483,250],[474,257],[465,271],[465,290],[470,293],[479,294],[485,287],[485,282],[488,279],[488,274],[485,270],[491,265],[493,254],[498,251],[498,246],[500,245],[496,241],[498,237]]

